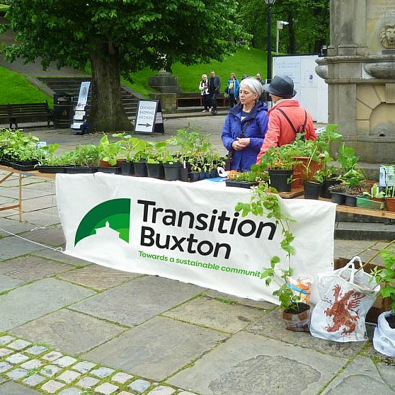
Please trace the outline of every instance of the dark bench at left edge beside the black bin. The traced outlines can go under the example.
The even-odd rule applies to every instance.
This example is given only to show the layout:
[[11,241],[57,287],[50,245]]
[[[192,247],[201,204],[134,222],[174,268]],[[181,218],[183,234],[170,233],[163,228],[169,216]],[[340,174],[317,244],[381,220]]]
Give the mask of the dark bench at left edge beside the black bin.
[[53,110],[45,103],[23,103],[23,104],[0,104],[0,123],[1,121],[9,122],[10,129],[15,125],[18,128],[18,122],[46,121],[47,126],[53,122]]

